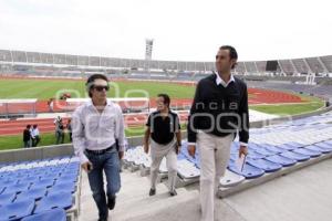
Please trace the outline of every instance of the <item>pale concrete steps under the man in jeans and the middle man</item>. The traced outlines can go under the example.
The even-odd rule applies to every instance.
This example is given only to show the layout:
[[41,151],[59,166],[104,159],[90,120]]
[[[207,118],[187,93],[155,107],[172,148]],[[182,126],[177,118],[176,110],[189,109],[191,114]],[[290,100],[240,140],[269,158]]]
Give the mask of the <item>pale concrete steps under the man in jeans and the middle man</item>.
[[[121,173],[122,189],[117,194],[116,207],[110,212],[112,221],[147,220],[199,220],[199,193],[197,190],[177,189],[178,196],[169,197],[165,183],[157,185],[157,193],[148,196],[149,179],[138,172],[124,170]],[[180,218],[183,215],[183,218]],[[85,172],[82,173],[80,221],[97,220],[97,209],[90,191]]]

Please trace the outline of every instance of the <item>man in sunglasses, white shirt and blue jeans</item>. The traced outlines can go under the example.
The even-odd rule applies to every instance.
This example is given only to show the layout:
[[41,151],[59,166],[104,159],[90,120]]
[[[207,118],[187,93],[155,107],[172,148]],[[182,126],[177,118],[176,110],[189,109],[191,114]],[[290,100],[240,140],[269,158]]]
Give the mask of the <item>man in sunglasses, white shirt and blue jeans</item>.
[[[124,119],[121,107],[107,101],[108,80],[94,74],[86,82],[91,101],[75,109],[72,116],[73,146],[82,168],[87,172],[98,220],[108,218],[121,188],[120,160],[125,149]],[[116,145],[117,144],[117,145]],[[106,194],[103,182],[106,176]]]

